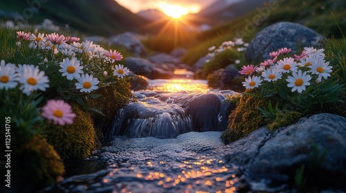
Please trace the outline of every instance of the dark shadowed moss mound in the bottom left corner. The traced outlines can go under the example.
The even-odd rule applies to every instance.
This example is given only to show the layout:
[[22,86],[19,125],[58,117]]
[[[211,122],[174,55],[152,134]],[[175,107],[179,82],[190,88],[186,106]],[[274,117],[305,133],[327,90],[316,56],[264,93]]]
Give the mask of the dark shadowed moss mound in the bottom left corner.
[[64,164],[59,154],[42,136],[34,135],[30,141],[19,145],[13,153],[11,167],[15,175],[15,188],[21,190],[37,190],[53,185],[64,174]]

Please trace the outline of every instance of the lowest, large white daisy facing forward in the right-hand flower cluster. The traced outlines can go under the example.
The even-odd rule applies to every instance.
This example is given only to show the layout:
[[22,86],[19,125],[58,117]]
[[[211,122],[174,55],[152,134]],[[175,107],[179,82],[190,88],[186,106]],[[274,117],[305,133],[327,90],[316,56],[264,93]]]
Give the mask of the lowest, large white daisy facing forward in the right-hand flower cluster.
[[292,88],[291,92],[295,92],[295,90],[298,90],[298,92],[302,92],[305,90],[306,85],[310,85],[309,81],[311,80],[311,77],[307,72],[302,72],[302,70],[298,70],[298,74],[296,72],[292,72],[293,77],[288,77],[286,79],[287,86],[289,88]]

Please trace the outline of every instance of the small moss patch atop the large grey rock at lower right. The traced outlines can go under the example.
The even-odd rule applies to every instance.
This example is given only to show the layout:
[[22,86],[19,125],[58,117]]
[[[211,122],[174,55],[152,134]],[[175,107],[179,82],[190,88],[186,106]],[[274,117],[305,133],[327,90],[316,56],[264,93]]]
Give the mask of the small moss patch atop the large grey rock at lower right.
[[291,125],[292,123],[297,122],[301,117],[302,114],[296,111],[280,112],[273,123],[269,123],[267,125],[267,128],[268,130],[273,132],[277,128],[282,128],[284,126]]

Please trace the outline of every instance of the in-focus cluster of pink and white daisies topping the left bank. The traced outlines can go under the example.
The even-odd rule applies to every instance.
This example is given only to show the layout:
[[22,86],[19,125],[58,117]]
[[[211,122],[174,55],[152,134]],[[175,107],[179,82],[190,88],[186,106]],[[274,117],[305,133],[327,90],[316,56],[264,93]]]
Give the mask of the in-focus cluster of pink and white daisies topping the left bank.
[[[17,32],[17,45],[22,41],[30,41],[31,49],[42,49],[51,53],[52,59],[60,63],[62,76],[70,81],[75,81],[75,88],[80,92],[92,92],[98,89],[98,77],[107,76],[107,67],[115,61],[120,61],[122,55],[116,50],[104,50],[92,41],[82,41],[78,37],[64,37],[57,33],[32,34]],[[61,59],[61,60],[60,60]],[[60,61],[59,61],[60,60]],[[44,62],[48,60],[45,58]],[[102,66],[103,64],[103,66]],[[129,69],[123,65],[114,65],[113,76],[125,77]]]

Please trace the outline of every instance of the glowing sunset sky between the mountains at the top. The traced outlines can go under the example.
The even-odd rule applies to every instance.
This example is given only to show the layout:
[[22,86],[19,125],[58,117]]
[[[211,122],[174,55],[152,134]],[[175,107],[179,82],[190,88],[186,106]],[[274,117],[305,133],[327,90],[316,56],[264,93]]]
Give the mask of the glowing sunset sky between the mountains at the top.
[[216,0],[115,0],[121,6],[127,8],[131,12],[139,12],[140,10],[147,10],[158,8],[163,10],[169,6],[180,6],[185,11],[194,13],[199,12],[204,6]]

